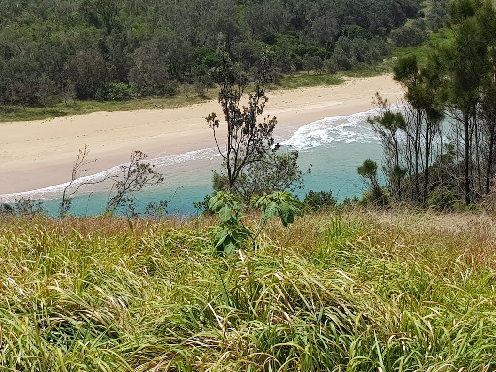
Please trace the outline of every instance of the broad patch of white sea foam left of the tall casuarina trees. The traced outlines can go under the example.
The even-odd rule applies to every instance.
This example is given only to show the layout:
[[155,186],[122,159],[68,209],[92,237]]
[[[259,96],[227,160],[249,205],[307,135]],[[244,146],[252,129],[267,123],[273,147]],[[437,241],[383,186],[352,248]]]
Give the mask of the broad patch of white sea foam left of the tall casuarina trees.
[[364,122],[375,113],[376,110],[373,109],[349,116],[334,116],[317,120],[300,127],[291,138],[281,144],[297,150],[308,150],[333,142],[371,143],[377,141],[377,136],[369,125],[364,125]]

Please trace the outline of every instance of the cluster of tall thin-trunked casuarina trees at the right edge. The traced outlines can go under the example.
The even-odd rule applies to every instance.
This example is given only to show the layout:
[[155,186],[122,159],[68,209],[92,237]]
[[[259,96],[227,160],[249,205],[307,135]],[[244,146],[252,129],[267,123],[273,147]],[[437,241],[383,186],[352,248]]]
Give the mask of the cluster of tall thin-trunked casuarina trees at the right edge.
[[381,139],[388,186],[380,186],[372,160],[358,169],[373,202],[451,208],[496,200],[496,9],[490,1],[456,0],[447,26],[453,38],[431,46],[426,66],[415,56],[395,65],[405,110],[376,97],[379,114],[369,121]]

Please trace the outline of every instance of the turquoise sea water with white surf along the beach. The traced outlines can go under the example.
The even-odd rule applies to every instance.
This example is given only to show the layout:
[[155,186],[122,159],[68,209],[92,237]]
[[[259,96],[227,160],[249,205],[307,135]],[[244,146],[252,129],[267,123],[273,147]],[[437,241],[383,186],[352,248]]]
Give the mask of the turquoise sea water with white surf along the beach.
[[[283,145],[282,150],[288,147],[300,150],[299,162],[302,169],[306,169],[309,164],[313,165],[311,174],[305,178],[305,189],[297,191],[301,198],[308,190],[330,189],[339,201],[347,196],[362,194],[364,186],[357,174],[357,167],[366,158],[376,161],[381,158],[380,143],[367,123],[367,117],[372,114],[373,111],[369,111],[325,118],[277,138]],[[151,159],[150,162],[164,174],[165,182],[136,194],[136,210],[143,210],[150,200],[167,199],[175,193],[169,202],[168,212],[194,214],[192,203],[202,200],[206,194],[212,192],[211,170],[220,167],[221,159],[216,149],[209,148]],[[112,171],[89,178],[98,180]],[[73,199],[71,213],[101,213],[109,199],[109,187],[99,185],[99,189],[82,189]],[[10,201],[14,197],[42,198],[50,214],[56,215],[62,188],[62,185],[57,185],[31,193],[0,195],[0,201]]]

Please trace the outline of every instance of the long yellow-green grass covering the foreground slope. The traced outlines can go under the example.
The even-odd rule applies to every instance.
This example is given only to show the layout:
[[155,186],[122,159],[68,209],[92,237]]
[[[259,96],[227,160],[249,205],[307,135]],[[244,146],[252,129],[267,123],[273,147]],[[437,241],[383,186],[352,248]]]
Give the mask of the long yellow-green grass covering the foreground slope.
[[214,257],[214,220],[2,220],[0,370],[495,371],[496,223],[343,212]]

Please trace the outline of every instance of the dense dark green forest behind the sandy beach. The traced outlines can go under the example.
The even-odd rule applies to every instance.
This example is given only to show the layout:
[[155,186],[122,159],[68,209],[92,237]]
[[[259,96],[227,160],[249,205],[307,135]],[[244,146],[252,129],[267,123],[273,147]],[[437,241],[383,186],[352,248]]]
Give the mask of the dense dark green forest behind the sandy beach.
[[[418,44],[444,21],[420,0],[5,0],[0,7],[0,104],[50,106],[63,97],[123,100],[199,95],[220,64],[219,34],[247,70],[267,46],[274,77],[372,63]],[[436,5],[437,4],[437,5]],[[391,34],[391,30],[395,30]],[[184,92],[187,95],[187,91]],[[59,97],[59,98],[57,98]]]

